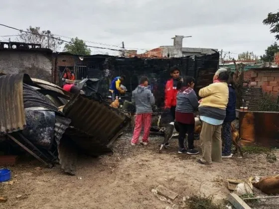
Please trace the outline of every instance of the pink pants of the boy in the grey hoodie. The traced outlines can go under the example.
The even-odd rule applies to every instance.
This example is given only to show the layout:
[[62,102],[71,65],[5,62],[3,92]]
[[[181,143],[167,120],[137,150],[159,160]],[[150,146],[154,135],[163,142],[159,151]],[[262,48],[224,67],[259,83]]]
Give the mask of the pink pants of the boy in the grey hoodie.
[[139,135],[140,135],[142,125],[143,125],[142,142],[148,142],[150,127],[151,127],[151,113],[136,114],[135,129],[131,141],[134,144],[139,142]]

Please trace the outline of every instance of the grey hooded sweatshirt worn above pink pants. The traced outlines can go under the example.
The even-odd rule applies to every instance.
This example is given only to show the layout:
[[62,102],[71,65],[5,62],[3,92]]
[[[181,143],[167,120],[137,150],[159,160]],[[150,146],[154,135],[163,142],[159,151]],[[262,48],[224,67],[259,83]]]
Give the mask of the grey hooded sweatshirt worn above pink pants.
[[155,99],[147,87],[138,86],[132,93],[132,104],[136,105],[136,114],[150,113]]

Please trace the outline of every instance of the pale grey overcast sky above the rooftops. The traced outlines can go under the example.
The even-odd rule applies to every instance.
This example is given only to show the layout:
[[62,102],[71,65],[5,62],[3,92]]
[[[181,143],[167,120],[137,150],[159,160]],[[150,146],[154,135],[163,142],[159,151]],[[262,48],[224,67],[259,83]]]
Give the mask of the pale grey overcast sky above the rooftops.
[[[146,50],[172,45],[174,35],[191,35],[184,47],[262,55],[275,41],[263,19],[278,8],[278,0],[7,0],[0,3],[0,23]],[[16,34],[0,26],[0,36]],[[92,49],[105,52],[115,54]]]

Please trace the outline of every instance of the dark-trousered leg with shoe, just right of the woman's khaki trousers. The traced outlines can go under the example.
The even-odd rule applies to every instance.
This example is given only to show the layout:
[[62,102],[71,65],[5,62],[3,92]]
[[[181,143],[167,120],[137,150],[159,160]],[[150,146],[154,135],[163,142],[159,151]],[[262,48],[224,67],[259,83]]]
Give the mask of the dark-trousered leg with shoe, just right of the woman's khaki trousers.
[[222,124],[222,137],[224,139],[224,152],[222,157],[231,157],[232,155],[232,122],[224,122]]

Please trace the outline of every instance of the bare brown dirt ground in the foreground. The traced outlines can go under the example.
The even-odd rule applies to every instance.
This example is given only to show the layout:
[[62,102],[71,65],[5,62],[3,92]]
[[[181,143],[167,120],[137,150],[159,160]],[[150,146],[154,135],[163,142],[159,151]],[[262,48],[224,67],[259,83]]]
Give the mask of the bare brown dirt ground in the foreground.
[[[0,196],[8,198],[0,209],[165,209],[171,204],[158,200],[151,190],[163,185],[178,194],[173,204],[192,193],[227,199],[227,178],[248,179],[279,173],[278,162],[266,154],[245,154],[222,163],[199,165],[200,157],[177,153],[177,139],[158,153],[160,137],[151,137],[147,147],[132,147],[131,134],[114,143],[114,155],[81,156],[76,176],[59,166],[48,169],[37,162],[19,162],[11,167],[12,185],[0,185]],[[199,141],[195,141],[199,147]],[[279,158],[279,152],[276,152]],[[21,197],[19,197],[21,196]],[[267,202],[265,202],[267,203]]]

